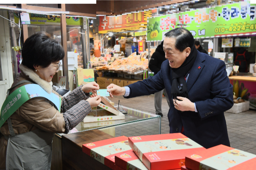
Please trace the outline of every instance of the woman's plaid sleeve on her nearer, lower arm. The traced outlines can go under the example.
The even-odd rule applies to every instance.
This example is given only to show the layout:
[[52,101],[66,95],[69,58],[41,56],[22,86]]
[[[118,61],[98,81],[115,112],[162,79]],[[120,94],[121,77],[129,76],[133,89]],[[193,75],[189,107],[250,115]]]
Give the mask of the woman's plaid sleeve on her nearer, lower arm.
[[71,107],[63,113],[65,121],[65,133],[69,133],[69,130],[73,129],[78,125],[89,112],[91,112],[91,105],[86,100],[81,100],[78,104]]

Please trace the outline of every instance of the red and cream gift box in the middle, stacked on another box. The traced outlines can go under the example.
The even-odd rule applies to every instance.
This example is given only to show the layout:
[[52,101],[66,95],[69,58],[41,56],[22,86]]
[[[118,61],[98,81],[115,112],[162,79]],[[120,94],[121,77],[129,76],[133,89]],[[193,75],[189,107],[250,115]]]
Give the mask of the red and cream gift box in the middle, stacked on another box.
[[129,137],[128,141],[149,170],[180,169],[185,156],[206,150],[181,133]]

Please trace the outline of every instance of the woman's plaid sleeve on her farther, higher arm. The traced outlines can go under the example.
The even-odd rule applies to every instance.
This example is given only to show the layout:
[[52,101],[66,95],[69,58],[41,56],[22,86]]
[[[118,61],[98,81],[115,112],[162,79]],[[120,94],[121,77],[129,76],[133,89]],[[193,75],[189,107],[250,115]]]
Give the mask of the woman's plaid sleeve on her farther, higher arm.
[[82,91],[82,86],[74,89],[66,97],[63,97],[61,103],[61,110],[65,113],[71,107],[75,106],[81,100],[87,100],[90,96],[90,93],[85,93]]

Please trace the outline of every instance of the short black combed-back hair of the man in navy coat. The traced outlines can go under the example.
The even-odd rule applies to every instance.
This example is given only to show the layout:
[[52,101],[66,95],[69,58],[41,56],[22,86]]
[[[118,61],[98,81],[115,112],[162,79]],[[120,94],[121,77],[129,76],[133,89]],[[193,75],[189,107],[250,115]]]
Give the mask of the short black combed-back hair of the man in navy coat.
[[193,35],[185,28],[179,27],[172,29],[165,33],[165,37],[168,38],[175,38],[175,48],[178,49],[180,52],[184,51],[187,47],[190,49],[194,46],[194,37]]

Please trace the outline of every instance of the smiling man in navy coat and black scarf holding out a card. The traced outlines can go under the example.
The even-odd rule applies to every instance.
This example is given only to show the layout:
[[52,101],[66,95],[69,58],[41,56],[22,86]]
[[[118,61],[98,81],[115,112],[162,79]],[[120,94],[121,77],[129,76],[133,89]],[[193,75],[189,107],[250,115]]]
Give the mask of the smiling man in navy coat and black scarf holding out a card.
[[230,146],[224,111],[233,106],[233,87],[225,63],[195,49],[194,37],[184,28],[165,34],[165,60],[153,77],[119,87],[110,96],[150,95],[166,89],[171,102],[170,133],[182,133],[205,148]]

